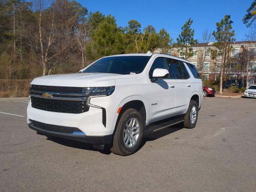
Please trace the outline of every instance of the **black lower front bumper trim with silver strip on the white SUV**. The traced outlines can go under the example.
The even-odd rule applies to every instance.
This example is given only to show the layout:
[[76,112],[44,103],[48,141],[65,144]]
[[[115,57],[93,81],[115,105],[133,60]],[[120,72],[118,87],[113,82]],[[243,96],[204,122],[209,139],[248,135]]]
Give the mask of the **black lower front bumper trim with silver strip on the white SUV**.
[[[54,132],[45,130],[39,127],[34,126],[31,122],[28,123],[29,128],[35,130],[39,134],[45,135],[45,136],[56,136],[60,138],[66,138],[76,141],[81,141],[85,143],[91,143],[91,144],[110,144],[112,142],[112,134],[110,135],[104,135],[104,136],[86,136],[86,134],[71,134],[71,133],[63,133],[63,132]],[[61,128],[59,126],[59,128]],[[64,127],[63,127],[64,128]]]

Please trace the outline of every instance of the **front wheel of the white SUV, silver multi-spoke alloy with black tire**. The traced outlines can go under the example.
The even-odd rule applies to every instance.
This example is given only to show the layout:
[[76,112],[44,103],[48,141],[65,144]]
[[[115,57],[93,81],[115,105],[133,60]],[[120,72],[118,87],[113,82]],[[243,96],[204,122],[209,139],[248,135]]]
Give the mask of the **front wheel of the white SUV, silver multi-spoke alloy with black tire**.
[[140,147],[143,132],[144,124],[140,113],[132,108],[126,110],[117,124],[111,152],[122,156],[135,153]]

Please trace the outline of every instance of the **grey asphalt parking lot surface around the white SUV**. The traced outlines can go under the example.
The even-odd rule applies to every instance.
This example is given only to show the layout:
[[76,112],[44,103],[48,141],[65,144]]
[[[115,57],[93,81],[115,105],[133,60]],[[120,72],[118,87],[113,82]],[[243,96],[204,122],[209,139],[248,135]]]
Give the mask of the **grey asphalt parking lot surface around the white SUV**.
[[26,106],[0,102],[1,192],[256,191],[256,99],[206,98],[194,129],[148,135],[127,157],[37,135]]

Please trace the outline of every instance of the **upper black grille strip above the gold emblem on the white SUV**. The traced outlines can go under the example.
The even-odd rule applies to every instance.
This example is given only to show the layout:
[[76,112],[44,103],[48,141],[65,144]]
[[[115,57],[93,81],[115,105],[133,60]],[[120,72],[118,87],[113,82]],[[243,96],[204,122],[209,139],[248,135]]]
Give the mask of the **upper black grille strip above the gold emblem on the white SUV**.
[[47,85],[31,85],[30,90],[56,92],[56,93],[82,93],[82,87],[63,87],[63,86],[47,86]]

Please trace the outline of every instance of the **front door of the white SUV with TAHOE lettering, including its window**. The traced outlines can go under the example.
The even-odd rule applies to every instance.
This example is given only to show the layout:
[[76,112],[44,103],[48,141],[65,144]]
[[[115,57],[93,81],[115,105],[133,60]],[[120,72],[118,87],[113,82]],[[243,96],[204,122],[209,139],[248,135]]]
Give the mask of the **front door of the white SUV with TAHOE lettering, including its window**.
[[150,122],[168,118],[174,114],[175,109],[175,81],[166,78],[150,82],[153,71],[156,68],[167,69],[164,57],[157,57],[148,73],[149,89],[150,89]]

